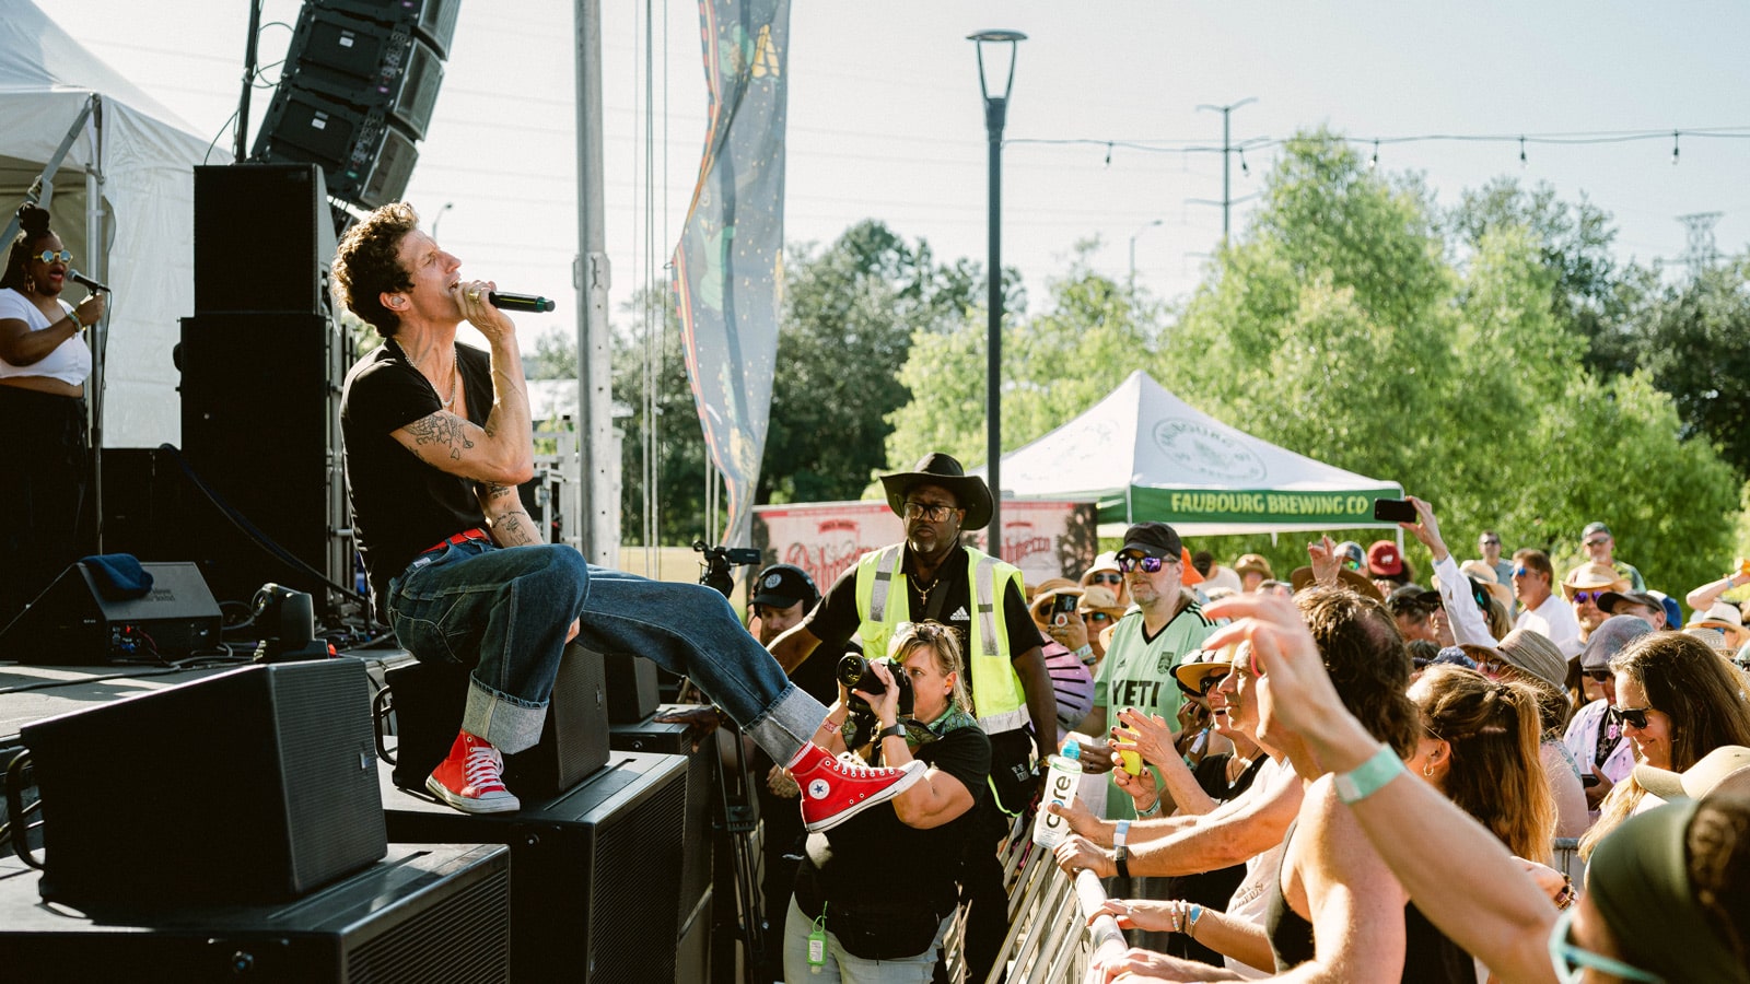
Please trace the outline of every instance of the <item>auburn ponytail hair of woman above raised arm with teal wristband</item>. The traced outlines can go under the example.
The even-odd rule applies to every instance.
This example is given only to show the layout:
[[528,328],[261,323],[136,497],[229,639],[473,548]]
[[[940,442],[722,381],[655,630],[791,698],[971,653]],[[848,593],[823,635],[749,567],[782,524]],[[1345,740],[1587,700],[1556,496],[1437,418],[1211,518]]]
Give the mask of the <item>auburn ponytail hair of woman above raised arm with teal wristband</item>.
[[1432,665],[1410,690],[1423,725],[1451,746],[1446,795],[1508,851],[1549,863],[1556,800],[1544,779],[1538,695],[1522,683]]

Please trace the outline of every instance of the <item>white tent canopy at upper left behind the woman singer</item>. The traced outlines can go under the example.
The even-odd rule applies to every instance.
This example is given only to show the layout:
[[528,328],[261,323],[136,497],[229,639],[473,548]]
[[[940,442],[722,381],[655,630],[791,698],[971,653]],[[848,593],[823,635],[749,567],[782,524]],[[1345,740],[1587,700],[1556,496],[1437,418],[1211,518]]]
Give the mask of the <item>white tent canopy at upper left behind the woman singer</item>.
[[208,142],[33,4],[0,0],[0,224],[93,96],[46,205],[74,266],[114,289],[103,445],[178,443],[172,348],[194,313],[194,165]]

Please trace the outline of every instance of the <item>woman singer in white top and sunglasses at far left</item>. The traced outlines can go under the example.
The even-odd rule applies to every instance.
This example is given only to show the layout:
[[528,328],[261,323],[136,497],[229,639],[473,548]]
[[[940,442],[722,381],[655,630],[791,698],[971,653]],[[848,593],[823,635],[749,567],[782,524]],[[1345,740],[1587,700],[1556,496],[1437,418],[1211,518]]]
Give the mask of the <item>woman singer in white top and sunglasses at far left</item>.
[[80,333],[103,317],[103,298],[61,299],[74,254],[33,205],[0,275],[0,627],[79,559],[79,517],[89,471]]

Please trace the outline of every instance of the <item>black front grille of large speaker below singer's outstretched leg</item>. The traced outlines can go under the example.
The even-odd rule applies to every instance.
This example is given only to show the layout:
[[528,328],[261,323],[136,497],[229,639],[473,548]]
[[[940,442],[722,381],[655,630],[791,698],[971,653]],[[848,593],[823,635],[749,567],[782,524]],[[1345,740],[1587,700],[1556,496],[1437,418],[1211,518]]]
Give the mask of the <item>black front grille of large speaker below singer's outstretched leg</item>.
[[[684,774],[598,832],[590,886],[592,984],[674,979],[679,930],[674,903],[681,875]],[[653,926],[674,926],[667,937]],[[656,942],[653,942],[656,940]]]

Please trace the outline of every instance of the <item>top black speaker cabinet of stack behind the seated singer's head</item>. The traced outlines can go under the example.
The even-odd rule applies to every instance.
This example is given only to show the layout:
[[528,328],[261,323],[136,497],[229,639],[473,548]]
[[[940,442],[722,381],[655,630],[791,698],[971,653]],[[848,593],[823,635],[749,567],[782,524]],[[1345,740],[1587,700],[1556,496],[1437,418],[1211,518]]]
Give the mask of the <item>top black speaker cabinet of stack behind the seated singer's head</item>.
[[196,313],[332,306],[334,219],[322,177],[312,163],[194,168]]

